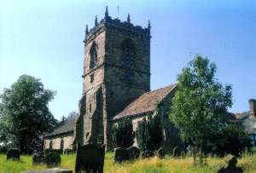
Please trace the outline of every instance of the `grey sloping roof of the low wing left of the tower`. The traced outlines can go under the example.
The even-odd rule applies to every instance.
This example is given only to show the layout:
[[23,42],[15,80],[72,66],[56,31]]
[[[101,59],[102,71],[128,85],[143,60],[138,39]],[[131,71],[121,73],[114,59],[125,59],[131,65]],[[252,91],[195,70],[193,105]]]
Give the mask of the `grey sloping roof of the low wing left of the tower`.
[[65,124],[63,124],[60,127],[56,128],[55,130],[53,130],[53,132],[47,134],[45,137],[57,136],[57,135],[61,135],[61,134],[64,134],[64,133],[73,132],[73,129],[74,129],[74,126],[75,126],[75,122],[76,122],[77,118],[78,117],[68,118],[67,122]]

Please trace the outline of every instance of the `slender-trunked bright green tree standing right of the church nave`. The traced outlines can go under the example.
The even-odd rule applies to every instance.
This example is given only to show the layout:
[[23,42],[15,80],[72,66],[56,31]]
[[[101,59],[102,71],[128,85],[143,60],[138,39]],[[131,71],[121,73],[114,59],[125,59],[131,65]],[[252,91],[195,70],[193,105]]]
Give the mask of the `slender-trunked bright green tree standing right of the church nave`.
[[200,163],[205,139],[224,125],[224,116],[232,106],[231,86],[218,82],[216,70],[214,63],[196,55],[177,75],[177,92],[172,99],[170,119],[183,139],[199,149]]

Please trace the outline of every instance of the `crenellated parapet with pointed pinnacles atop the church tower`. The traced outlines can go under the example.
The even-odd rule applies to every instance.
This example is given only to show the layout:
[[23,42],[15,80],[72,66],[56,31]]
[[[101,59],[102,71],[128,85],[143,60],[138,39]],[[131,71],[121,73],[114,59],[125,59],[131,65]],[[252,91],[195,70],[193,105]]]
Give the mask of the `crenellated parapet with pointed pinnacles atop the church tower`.
[[129,31],[133,34],[139,34],[139,35],[150,37],[151,26],[150,26],[149,20],[148,20],[148,27],[142,27],[142,26],[135,26],[131,23],[130,14],[128,14],[126,21],[121,21],[118,18],[112,19],[111,16],[108,15],[108,6],[107,6],[104,19],[98,22],[96,17],[95,26],[93,26],[90,30],[86,25],[84,43],[87,43],[88,41],[90,41],[90,39],[93,39],[93,37],[96,36],[97,32],[104,31],[105,29],[108,29],[111,27],[118,28],[120,30]]

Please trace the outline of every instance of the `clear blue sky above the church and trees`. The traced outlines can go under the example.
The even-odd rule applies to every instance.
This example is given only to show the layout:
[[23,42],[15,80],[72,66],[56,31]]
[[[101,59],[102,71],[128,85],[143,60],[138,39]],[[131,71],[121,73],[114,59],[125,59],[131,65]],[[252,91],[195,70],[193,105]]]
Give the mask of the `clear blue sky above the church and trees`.
[[[3,1],[0,6],[0,92],[22,74],[57,91],[55,118],[78,111],[82,94],[84,28],[109,14],[152,24],[151,89],[176,82],[195,54],[218,66],[218,79],[233,86],[232,112],[256,98],[255,0],[42,0]],[[118,7],[119,6],[119,13]]]

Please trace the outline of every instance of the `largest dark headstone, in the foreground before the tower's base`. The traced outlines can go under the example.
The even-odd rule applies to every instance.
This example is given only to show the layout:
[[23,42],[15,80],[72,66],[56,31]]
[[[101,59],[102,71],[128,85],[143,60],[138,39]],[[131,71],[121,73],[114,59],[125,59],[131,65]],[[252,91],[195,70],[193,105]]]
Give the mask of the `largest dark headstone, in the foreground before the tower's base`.
[[85,170],[86,172],[102,173],[105,159],[105,145],[98,146],[87,144],[77,149],[75,172]]

